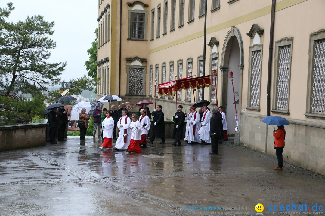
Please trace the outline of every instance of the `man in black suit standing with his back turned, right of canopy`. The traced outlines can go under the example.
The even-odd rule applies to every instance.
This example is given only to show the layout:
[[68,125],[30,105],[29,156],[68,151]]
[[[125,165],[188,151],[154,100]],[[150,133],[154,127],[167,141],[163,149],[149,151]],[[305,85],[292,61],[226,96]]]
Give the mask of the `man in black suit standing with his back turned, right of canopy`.
[[210,119],[210,137],[212,144],[212,152],[210,152],[210,154],[218,154],[219,138],[222,135],[222,117],[217,114],[218,111],[215,109],[212,110],[212,113],[213,114]]

